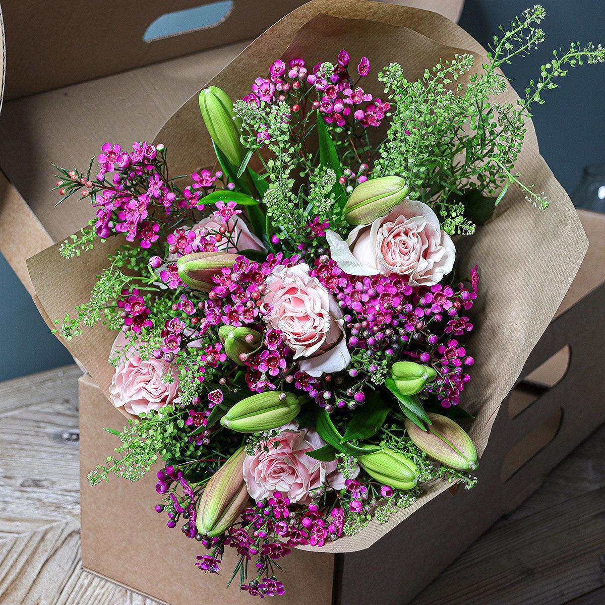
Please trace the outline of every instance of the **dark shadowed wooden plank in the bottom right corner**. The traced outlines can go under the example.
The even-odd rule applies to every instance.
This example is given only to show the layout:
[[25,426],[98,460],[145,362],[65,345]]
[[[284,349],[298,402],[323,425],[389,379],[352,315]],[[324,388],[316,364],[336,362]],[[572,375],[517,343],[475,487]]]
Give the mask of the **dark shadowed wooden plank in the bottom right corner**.
[[563,605],[603,586],[604,555],[600,488],[493,528],[413,605]]

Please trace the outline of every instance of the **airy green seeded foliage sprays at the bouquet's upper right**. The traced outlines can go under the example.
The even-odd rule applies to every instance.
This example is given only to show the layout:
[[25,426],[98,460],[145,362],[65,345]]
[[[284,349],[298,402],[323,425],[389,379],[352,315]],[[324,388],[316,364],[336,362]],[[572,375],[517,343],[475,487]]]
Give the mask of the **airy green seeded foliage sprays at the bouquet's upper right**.
[[[453,60],[437,64],[415,82],[405,79],[399,64],[388,65],[379,74],[396,110],[373,174],[406,178],[410,197],[433,206],[449,234],[472,234],[480,224],[476,217],[484,220],[491,214],[492,200],[500,200],[509,184],[518,186],[535,206],[548,207],[545,193],[523,184],[514,172],[525,140],[525,120],[535,104],[544,102],[543,91],[557,87],[554,80],[584,61],[602,62],[605,49],[574,43],[562,55],[554,51],[554,59],[541,66],[539,79],[529,83],[525,99],[516,104],[492,102],[505,89],[499,68],[514,57],[526,56],[544,40],[537,27],[544,17],[545,10],[536,5],[508,30],[501,28],[488,61],[469,76],[466,85],[458,80],[473,67],[470,54],[457,54]],[[482,191],[485,211],[477,206],[468,211],[462,198],[469,189]]]

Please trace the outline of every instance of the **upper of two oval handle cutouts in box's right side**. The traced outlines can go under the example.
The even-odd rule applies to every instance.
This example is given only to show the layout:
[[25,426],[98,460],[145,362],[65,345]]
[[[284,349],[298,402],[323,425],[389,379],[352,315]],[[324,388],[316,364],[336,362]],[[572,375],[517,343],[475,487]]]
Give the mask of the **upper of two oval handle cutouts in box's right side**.
[[531,371],[513,390],[508,398],[508,415],[517,417],[523,410],[535,404],[540,397],[559,384],[569,370],[571,348],[565,345],[543,364]]

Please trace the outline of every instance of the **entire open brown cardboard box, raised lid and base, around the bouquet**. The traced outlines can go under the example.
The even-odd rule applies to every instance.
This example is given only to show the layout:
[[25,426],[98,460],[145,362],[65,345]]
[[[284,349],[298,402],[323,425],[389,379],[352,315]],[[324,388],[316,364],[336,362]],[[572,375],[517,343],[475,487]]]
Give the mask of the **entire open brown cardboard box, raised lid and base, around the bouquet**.
[[[263,6],[268,7],[268,2],[262,2]],[[172,3],[171,8],[195,4],[201,2]],[[249,3],[236,0],[235,4],[245,6]],[[255,2],[255,8],[260,4]],[[270,5],[272,10],[258,10],[254,18],[248,18],[250,11],[236,12],[234,9],[229,18],[238,18],[231,25],[241,33],[241,38],[250,37],[296,4],[299,2],[280,0],[279,10],[274,2]],[[419,5],[420,1],[409,4]],[[457,5],[459,8],[460,3]],[[85,51],[98,51],[97,41],[104,39],[106,34],[88,30],[87,35],[80,36],[76,31],[77,23],[72,21],[72,13],[84,15],[91,10],[88,3],[62,1],[55,6],[56,17],[53,12],[50,21],[42,27],[28,21],[20,3],[4,0],[9,74],[29,74],[28,65],[38,57],[42,66],[35,77],[27,75],[23,81],[16,75],[9,77],[7,96],[10,100],[5,103],[0,118],[3,141],[0,167],[4,171],[4,174],[0,173],[0,251],[30,291],[25,259],[53,241],[70,235],[93,214],[86,204],[71,198],[62,208],[54,208],[56,198],[48,193],[50,163],[87,165],[91,154],[104,140],[122,143],[142,137],[151,140],[178,106],[246,45],[218,31],[214,44],[231,44],[209,48],[212,44],[208,42],[209,31],[205,30],[186,34],[175,47],[166,41],[156,41],[151,45],[157,44],[155,48],[162,45],[163,50],[148,50],[152,46],[141,50],[140,8],[127,3],[119,8],[118,21],[121,21],[116,26],[123,44],[108,41],[106,56],[102,60],[97,56],[96,61],[90,63]],[[60,10],[62,6],[65,11]],[[159,15],[158,11],[165,3],[147,2],[146,11],[148,7],[149,16]],[[64,13],[67,17],[60,21]],[[267,22],[261,24],[263,16]],[[57,19],[54,23],[53,18]],[[91,15],[85,22],[93,21],[94,15]],[[60,33],[61,27],[65,28],[63,31],[70,29],[76,33],[60,36],[56,32]],[[53,30],[48,38],[44,34],[45,28]],[[94,49],[90,40],[95,40]],[[15,59],[10,59],[11,47],[21,50],[21,58],[15,54]],[[174,48],[174,52],[169,48]],[[209,50],[195,52],[203,48]],[[177,54],[186,56],[147,65]],[[126,62],[124,57],[129,57]],[[67,74],[55,67],[66,64],[70,64]],[[129,71],[116,73],[125,69]],[[90,80],[109,73],[113,75]],[[57,89],[64,85],[67,86]],[[34,92],[37,94],[30,94]],[[20,97],[22,94],[30,96]],[[592,229],[595,241],[602,242],[603,217],[587,213],[583,217],[590,223],[587,231]],[[27,238],[22,237],[24,232],[27,232]],[[592,241],[590,232],[589,237]],[[590,250],[598,250],[598,245],[591,244]],[[301,603],[310,598],[322,603],[324,597],[326,603],[371,603],[376,600],[376,586],[381,586],[382,603],[407,603],[500,515],[529,495],[544,473],[605,420],[605,408],[598,399],[598,381],[585,384],[589,381],[583,380],[585,373],[603,373],[600,359],[597,356],[586,359],[584,351],[589,352],[599,344],[594,325],[595,322],[597,325],[603,323],[605,291],[601,286],[589,296],[583,296],[605,279],[604,256],[601,250],[601,255],[593,257],[592,264],[581,276],[583,281],[574,282],[567,306],[577,304],[561,312],[551,324],[522,374],[522,377],[529,374],[564,345],[573,348],[577,343],[577,352],[574,348],[566,376],[546,390],[545,385],[554,382],[554,374],[548,371],[534,374],[531,385],[524,385],[520,393],[509,398],[508,404],[505,402],[505,407],[508,405],[512,415],[517,416],[514,419],[504,413],[497,416],[489,446],[482,457],[479,486],[456,498],[444,495],[431,500],[369,551],[337,555],[296,552],[287,561],[290,601],[285,603]],[[584,321],[589,313],[593,314],[593,323]],[[88,487],[88,471],[115,446],[113,437],[102,428],[119,426],[123,417],[108,405],[99,388],[90,381],[83,379],[81,388],[84,566],[138,592],[169,601],[171,605],[204,602],[207,600],[205,595],[217,597],[224,603],[239,602],[241,597],[237,590],[222,592],[223,577],[194,574],[189,582],[192,582],[191,578],[197,582],[188,584],[188,567],[193,564],[191,557],[198,554],[197,543],[181,537],[177,530],[169,532],[163,528],[160,515],[153,512],[156,500],[152,475],[144,480],[150,483],[148,486],[144,482],[139,485],[113,482],[106,488],[93,490]],[[536,393],[541,396],[532,405]],[[561,412],[567,402],[578,399],[584,403],[581,413],[577,413],[577,407],[574,414]],[[452,519],[457,520],[456,526],[451,523]],[[448,536],[447,548],[443,548],[444,535]],[[153,562],[157,560],[163,561],[165,572],[162,577],[155,573]],[[380,564],[368,566],[367,561],[380,561]],[[419,565],[418,561],[423,564]]]

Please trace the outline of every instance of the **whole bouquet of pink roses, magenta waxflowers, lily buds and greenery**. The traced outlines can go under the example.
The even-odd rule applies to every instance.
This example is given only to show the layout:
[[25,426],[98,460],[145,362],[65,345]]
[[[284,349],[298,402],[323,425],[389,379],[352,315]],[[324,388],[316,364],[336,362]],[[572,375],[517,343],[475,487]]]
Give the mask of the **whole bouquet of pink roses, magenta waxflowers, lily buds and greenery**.
[[[529,322],[504,324],[508,301],[533,294],[506,290],[526,286],[515,267],[494,270],[493,238],[532,263],[523,227],[511,235],[515,212],[525,203],[531,228],[549,221],[540,211],[549,191],[517,169],[526,139],[534,145],[531,114],[569,68],[605,60],[600,45],[555,51],[515,98],[500,67],[543,41],[544,16],[537,5],[515,18],[479,64],[454,52],[408,79],[397,53],[375,69],[371,48],[328,52],[347,36],[322,46],[327,30],[352,38],[359,26],[341,19],[330,29],[338,20],[319,15],[317,38],[300,30],[290,45],[325,50],[319,59],[284,47],[246,72],[241,98],[201,91],[214,168],[179,174],[168,143],[146,142],[105,143],[87,171],[57,167],[60,201],[80,195],[96,212],[60,245],[62,266],[96,254],[102,270],[56,331],[70,343],[111,331],[106,392],[129,416],[107,429],[121,445],[90,483],[136,481],[161,461],[156,510],[200,542],[203,571],[218,573],[235,549],[231,579],[252,595],[281,595],[292,548],[365,548],[355,540],[368,525],[376,540],[377,523],[400,522],[448,483],[476,483],[490,419],[582,254],[571,214],[547,211],[571,225],[571,252],[563,263],[535,260],[551,272],[545,310],[522,345],[502,335]],[[267,50],[246,53],[258,64]],[[497,254],[503,262],[515,250]],[[41,295],[48,276],[30,267]],[[505,378],[489,383],[500,366]]]

